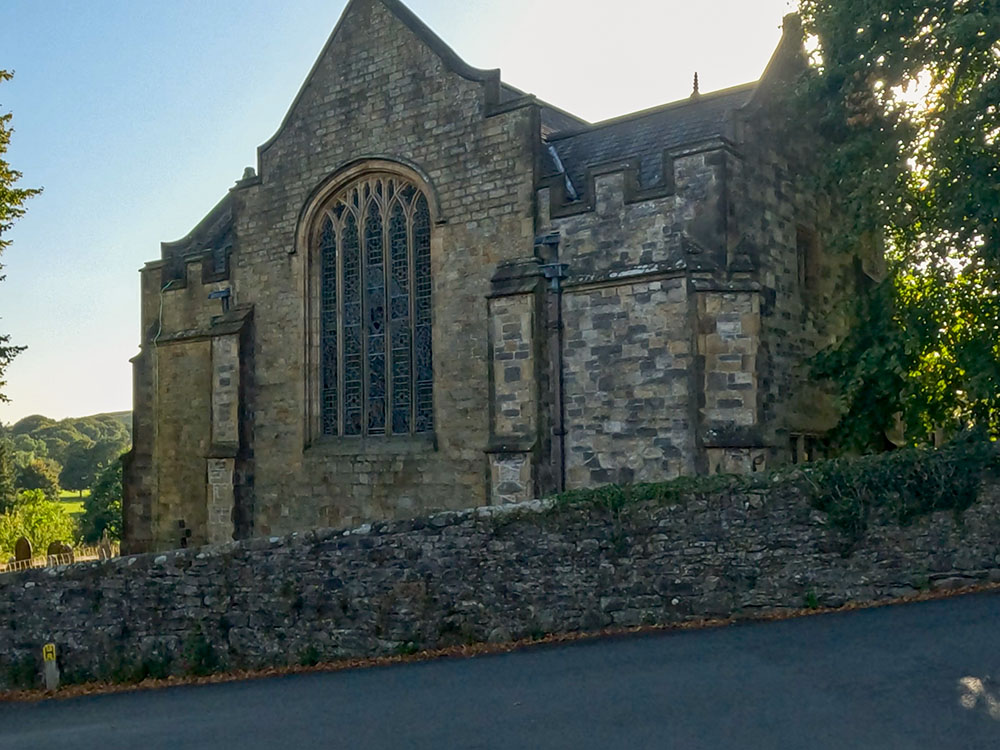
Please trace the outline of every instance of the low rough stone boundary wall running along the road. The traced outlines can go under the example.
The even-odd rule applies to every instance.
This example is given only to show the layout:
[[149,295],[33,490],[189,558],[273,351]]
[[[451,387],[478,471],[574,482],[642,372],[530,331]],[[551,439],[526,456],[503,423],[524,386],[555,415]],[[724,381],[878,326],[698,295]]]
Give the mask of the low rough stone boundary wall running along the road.
[[0,577],[0,680],[54,642],[67,679],[399,653],[871,602],[1000,579],[1000,492],[853,549],[791,491],[489,507]]

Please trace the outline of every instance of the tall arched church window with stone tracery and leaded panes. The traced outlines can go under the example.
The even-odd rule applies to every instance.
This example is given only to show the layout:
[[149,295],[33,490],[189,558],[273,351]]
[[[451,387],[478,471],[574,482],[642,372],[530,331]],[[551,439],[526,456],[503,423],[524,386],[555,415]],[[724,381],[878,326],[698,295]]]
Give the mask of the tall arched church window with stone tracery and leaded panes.
[[432,431],[427,198],[397,175],[368,175],[327,205],[317,242],[322,433]]

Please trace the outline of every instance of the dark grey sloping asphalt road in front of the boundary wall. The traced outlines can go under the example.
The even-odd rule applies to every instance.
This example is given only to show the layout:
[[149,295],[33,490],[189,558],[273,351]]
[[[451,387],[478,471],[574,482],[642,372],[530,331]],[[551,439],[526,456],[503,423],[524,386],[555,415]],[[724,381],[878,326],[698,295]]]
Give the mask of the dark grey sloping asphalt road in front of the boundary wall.
[[465,661],[0,704],[0,748],[1000,748],[998,639],[1000,595],[983,594]]

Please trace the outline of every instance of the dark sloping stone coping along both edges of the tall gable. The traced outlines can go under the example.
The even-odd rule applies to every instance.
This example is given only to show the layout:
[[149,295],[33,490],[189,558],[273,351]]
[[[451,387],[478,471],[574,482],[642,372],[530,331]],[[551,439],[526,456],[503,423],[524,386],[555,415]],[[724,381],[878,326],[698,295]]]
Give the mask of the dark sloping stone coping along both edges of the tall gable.
[[350,0],[347,7],[344,8],[344,12],[340,15],[340,20],[337,21],[337,25],[333,28],[333,32],[330,37],[326,40],[326,44],[323,45],[323,49],[320,51],[319,55],[316,57],[316,61],[313,63],[312,68],[309,70],[309,74],[306,79],[302,82],[302,86],[299,87],[299,92],[295,95],[295,99],[292,101],[291,106],[288,111],[285,112],[285,117],[278,126],[277,131],[272,135],[267,141],[262,145],[257,147],[257,160],[258,165],[260,164],[260,157],[263,155],[268,148],[270,148],[278,136],[281,135],[282,131],[288,125],[288,121],[292,116],[292,112],[295,111],[296,106],[298,106],[299,100],[305,93],[306,88],[308,88],[309,83],[312,81],[313,76],[316,74],[319,68],[320,61],[326,56],[327,51],[333,46],[334,41],[340,32],[341,27],[344,24],[344,19],[350,14],[352,10],[362,3],[381,3],[385,6],[393,16],[395,16],[406,28],[408,28],[421,42],[423,42],[427,47],[430,48],[434,54],[441,58],[441,62],[444,63],[445,67],[452,73],[461,76],[469,81],[475,81],[484,86],[486,90],[486,111],[487,114],[493,114],[494,110],[499,108],[499,105],[503,104],[500,111],[506,111],[508,109],[513,109],[517,106],[523,106],[524,104],[531,103],[535,101],[535,98],[530,94],[524,95],[521,98],[503,101],[503,92],[500,83],[500,70],[499,68],[491,70],[481,70],[480,68],[474,68],[469,65],[465,60],[458,56],[451,47],[445,44],[444,40],[441,39],[437,34],[431,31],[430,27],[427,26],[423,21],[421,21],[416,14],[407,8],[399,0]]

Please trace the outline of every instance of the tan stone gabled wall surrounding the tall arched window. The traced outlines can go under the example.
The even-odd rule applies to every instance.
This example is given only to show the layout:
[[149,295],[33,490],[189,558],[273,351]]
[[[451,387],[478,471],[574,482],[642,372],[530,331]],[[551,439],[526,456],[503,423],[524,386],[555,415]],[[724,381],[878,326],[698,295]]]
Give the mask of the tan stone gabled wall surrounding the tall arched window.
[[[237,200],[238,301],[254,306],[257,534],[405,518],[487,502],[485,298],[499,262],[534,238],[530,106],[494,114],[486,86],[443,59],[381,2],[353,3]],[[412,167],[435,225],[434,435],[312,440],[303,361],[308,252],[298,218],[318,186],[359,159]],[[315,378],[316,376],[313,376]],[[423,439],[426,438],[426,439]]]

